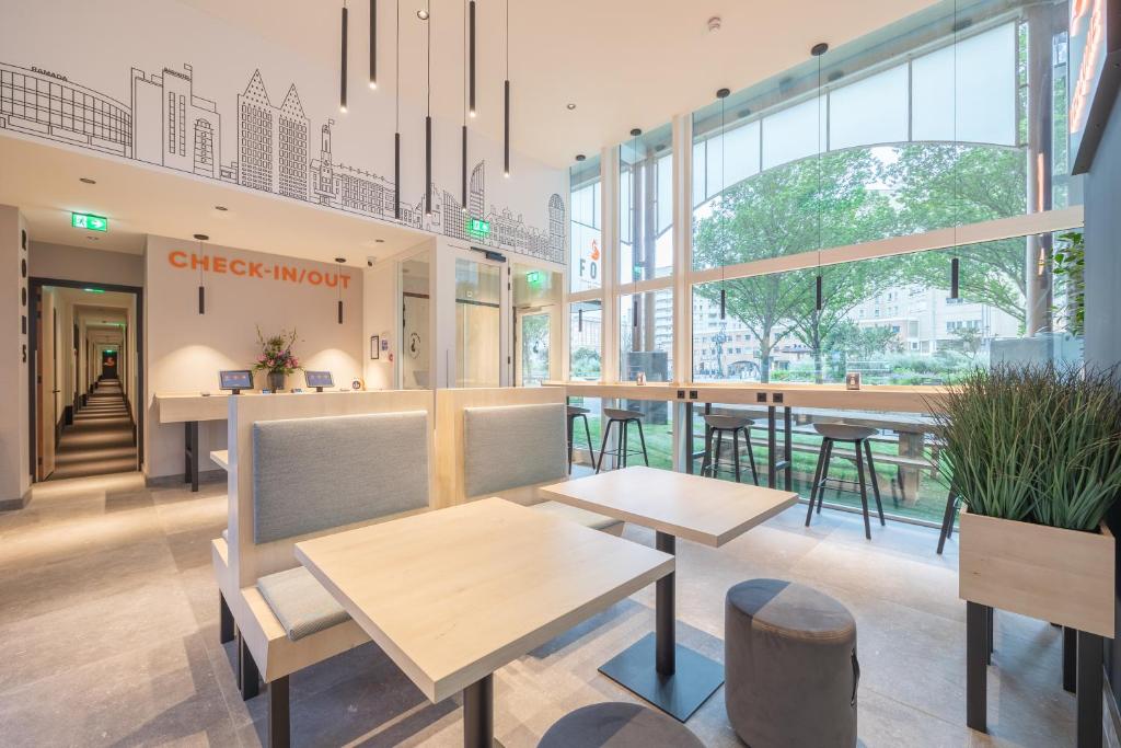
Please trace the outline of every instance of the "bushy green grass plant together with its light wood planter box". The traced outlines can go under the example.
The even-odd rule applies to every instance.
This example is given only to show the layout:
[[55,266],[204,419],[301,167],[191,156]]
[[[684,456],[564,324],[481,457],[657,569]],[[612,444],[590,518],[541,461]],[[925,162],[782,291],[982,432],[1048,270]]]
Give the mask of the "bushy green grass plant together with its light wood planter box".
[[960,597],[1112,638],[1103,519],[1121,495],[1117,371],[976,369],[937,406],[942,456],[966,507]]

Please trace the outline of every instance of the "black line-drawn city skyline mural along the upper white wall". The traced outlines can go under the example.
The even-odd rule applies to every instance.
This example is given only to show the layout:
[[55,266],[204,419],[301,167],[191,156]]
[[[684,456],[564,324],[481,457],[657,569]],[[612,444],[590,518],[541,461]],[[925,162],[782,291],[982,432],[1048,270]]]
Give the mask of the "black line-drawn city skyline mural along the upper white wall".
[[[490,205],[488,210],[487,163],[482,160],[471,172],[466,211],[455,194],[434,184],[432,214],[425,215],[423,197],[410,202],[402,196],[398,220],[393,182],[336,161],[331,119],[319,130],[318,158],[311,158],[311,118],[295,84],[280,105],[274,105],[259,70],[237,95],[237,147],[229,163],[222,161],[221,113],[214,101],[195,95],[191,65],[184,64],[182,72],[164,67],[151,75],[132,68],[131,96],[126,104],[58,73],[0,63],[0,128],[565,261],[567,222],[559,194],[548,198],[547,229],[526,225],[509,207]],[[470,236],[472,218],[488,221],[490,234]]]

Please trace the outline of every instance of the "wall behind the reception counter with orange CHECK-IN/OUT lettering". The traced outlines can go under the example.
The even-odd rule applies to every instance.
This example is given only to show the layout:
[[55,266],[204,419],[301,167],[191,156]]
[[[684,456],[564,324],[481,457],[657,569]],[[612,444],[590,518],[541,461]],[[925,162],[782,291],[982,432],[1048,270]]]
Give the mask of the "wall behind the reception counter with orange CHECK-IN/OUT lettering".
[[[298,333],[294,347],[300,364],[326,369],[348,386],[362,376],[362,270],[344,267],[343,324],[336,316],[339,289],[328,287],[339,268],[322,262],[207,244],[204,255],[225,260],[225,273],[204,274],[206,313],[198,314],[198,271],[178,268],[198,253],[194,241],[149,237],[145,255],[145,354],[147,358],[146,472],[149,477],[183,472],[183,426],[161,426],[156,393],[217,393],[221,369],[247,369],[259,352],[257,325],[265,335],[281,329]],[[304,281],[277,279],[278,270],[303,274]],[[261,277],[249,277],[254,271]],[[241,273],[242,275],[235,275]],[[318,285],[313,281],[319,279]],[[258,375],[261,387],[263,375]],[[303,387],[303,375],[288,387]],[[200,453],[225,449],[225,422],[200,424]],[[204,459],[205,460],[205,459]],[[205,462],[201,463],[207,469]]]

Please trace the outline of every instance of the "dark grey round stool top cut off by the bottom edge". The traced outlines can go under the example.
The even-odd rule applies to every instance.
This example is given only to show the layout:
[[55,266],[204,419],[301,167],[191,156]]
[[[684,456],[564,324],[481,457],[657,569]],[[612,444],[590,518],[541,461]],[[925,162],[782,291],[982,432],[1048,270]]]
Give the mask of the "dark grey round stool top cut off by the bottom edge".
[[623,702],[582,707],[541,736],[537,748],[704,748],[689,729],[652,709]]

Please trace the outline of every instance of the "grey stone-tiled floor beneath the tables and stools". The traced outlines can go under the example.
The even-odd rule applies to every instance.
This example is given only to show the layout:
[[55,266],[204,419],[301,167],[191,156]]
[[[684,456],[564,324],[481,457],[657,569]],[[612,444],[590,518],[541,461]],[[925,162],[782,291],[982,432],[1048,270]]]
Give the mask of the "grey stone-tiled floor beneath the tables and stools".
[[[146,489],[136,474],[52,481],[0,515],[0,744],[257,746],[266,699],[242,702],[232,645],[217,643],[210,539],[224,484]],[[723,594],[777,576],[836,597],[858,621],[864,746],[1067,746],[1074,698],[1060,637],[998,615],[990,731],[964,727],[964,603],[954,543],[826,510],[794,508],[721,550],[678,544],[678,636],[720,657]],[[628,527],[626,537],[652,543]],[[565,712],[630,696],[596,667],[649,631],[652,589],[503,667],[495,722],[508,748],[535,746]],[[429,704],[368,645],[293,676],[297,746],[456,746],[454,701]],[[723,691],[689,720],[707,746],[739,746]]]

